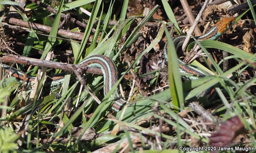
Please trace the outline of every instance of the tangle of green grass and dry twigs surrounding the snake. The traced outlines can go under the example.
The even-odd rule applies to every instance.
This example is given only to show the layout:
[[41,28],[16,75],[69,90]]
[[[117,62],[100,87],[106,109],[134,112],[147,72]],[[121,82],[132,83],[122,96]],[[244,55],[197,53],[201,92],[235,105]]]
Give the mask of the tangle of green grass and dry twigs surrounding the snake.
[[[0,61],[24,72],[18,80],[1,67],[0,152],[253,149],[256,1],[207,1],[194,36],[226,16],[236,23],[218,41],[177,50],[181,60],[209,73],[193,80],[172,73],[179,67],[168,68],[163,55],[170,32],[186,34],[205,3],[187,1],[0,1]],[[80,67],[91,55],[106,55],[117,65],[116,87],[129,101],[122,110],[111,109],[116,91],[104,96],[101,70]],[[24,81],[40,72],[36,84]],[[49,90],[47,82],[56,75],[64,82]],[[172,77],[182,85],[170,84]]]

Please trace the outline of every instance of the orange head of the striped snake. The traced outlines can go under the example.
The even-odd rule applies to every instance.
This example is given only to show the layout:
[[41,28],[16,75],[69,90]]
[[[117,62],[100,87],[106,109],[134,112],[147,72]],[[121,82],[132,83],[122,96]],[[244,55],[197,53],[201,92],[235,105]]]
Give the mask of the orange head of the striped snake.
[[215,26],[217,26],[219,33],[225,33],[231,25],[234,24],[235,17],[225,17],[221,18],[220,21],[218,21]]

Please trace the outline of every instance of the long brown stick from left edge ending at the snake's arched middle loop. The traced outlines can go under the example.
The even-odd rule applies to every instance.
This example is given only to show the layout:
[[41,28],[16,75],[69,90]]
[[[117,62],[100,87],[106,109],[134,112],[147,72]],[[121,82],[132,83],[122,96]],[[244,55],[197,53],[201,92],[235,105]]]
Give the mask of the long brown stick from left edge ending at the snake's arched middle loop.
[[94,73],[103,75],[102,71],[99,68],[91,68],[84,65],[74,65],[62,62],[53,62],[53,61],[45,61],[39,60],[35,58],[29,58],[21,55],[10,55],[10,54],[2,54],[0,56],[1,62],[15,62],[19,64],[40,66],[40,67],[48,67],[52,69],[63,69],[70,72],[74,72],[74,70],[81,69],[85,73]]

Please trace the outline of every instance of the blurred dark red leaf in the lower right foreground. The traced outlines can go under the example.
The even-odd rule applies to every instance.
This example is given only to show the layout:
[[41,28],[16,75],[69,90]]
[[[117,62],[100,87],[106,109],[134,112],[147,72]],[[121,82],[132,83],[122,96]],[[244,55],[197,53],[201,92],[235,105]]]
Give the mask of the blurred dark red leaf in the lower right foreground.
[[[245,132],[244,124],[239,117],[232,117],[226,122],[221,123],[220,128],[212,133],[212,136],[209,137],[209,146],[215,146],[217,149],[219,147],[229,147],[238,135]],[[216,152],[218,151],[211,151],[211,153]]]

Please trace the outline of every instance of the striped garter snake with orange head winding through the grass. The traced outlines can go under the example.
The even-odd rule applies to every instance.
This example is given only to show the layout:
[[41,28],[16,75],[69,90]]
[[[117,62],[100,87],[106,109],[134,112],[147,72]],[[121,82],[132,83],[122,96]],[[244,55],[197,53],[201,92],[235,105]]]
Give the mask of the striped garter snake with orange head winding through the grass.
[[[224,34],[230,28],[231,25],[234,24],[234,21],[235,21],[235,18],[233,16],[221,18],[206,34],[200,37],[195,37],[195,38],[197,40],[217,40],[218,38],[220,38],[222,34]],[[185,38],[186,38],[186,35],[178,35],[178,36],[172,37],[172,41],[174,43],[174,47],[176,51],[178,51],[179,47],[182,46]],[[164,60],[166,62],[168,62],[167,47],[168,46],[166,43],[164,46]],[[183,61],[180,60],[180,58],[178,58],[178,62],[179,62],[180,73],[193,75],[193,76],[191,75],[187,76],[187,78],[190,80],[198,78],[198,77],[194,77],[194,75],[200,76],[200,77],[204,77],[207,75],[205,72],[202,72],[201,70],[196,69],[184,63]],[[117,72],[117,67],[115,62],[105,55],[89,56],[79,64],[87,67],[101,69],[103,73],[103,79],[104,79],[103,90],[104,90],[105,96],[108,94],[108,92],[112,89],[112,87],[116,84],[118,80],[118,72]],[[31,85],[31,84],[34,84],[36,80],[36,77],[27,76],[25,75],[24,72],[11,68],[8,65],[1,64],[1,66],[4,67],[4,69],[6,70],[6,73],[9,73],[10,76],[12,77],[16,77],[17,80],[20,80],[20,82],[24,80],[27,82],[27,84]],[[51,76],[47,78],[51,78],[51,81],[49,81],[49,84],[48,84],[51,90],[61,87],[64,81],[63,76]],[[115,93],[115,98],[117,100],[115,100],[115,102],[113,103],[112,109],[117,112],[122,109],[122,107],[126,104],[127,101],[124,100],[122,97],[120,98],[120,95],[117,92]]]

